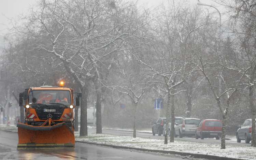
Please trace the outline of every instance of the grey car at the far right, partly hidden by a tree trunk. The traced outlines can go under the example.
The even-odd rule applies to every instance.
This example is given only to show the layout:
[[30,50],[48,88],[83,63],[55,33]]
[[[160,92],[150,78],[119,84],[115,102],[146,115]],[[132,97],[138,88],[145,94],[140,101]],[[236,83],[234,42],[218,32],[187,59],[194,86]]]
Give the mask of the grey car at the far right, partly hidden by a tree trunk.
[[245,140],[245,143],[250,143],[252,140],[252,119],[246,119],[242,126],[239,125],[238,127],[237,142],[240,143],[241,140]]

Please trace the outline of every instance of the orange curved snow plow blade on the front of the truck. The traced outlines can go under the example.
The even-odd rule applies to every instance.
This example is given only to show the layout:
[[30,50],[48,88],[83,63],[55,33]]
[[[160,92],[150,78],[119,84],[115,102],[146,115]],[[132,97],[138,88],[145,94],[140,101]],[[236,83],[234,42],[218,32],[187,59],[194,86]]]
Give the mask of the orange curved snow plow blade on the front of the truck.
[[17,127],[19,137],[17,150],[74,149],[74,132],[64,122],[51,127],[34,127],[18,123]]

